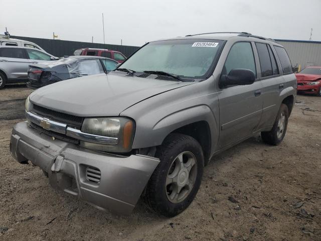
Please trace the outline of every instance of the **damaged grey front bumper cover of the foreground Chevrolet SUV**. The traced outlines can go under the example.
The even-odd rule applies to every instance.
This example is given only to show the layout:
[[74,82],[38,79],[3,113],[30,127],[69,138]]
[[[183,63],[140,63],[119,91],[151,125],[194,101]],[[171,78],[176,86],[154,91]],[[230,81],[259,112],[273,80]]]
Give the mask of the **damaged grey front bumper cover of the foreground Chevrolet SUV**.
[[[78,196],[99,209],[130,214],[159,160],[142,155],[116,156],[81,148],[18,123],[10,141],[12,156],[48,172],[54,188]],[[100,182],[87,180],[86,168],[98,168]],[[76,184],[76,185],[75,185]]]

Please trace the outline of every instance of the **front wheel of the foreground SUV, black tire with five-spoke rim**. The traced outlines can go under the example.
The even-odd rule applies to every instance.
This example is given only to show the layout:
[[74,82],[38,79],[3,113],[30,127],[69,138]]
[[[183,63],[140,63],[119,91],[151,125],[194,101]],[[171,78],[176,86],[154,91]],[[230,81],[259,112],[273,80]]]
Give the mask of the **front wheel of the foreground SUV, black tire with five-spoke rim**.
[[170,134],[157,148],[155,157],[161,162],[147,183],[144,200],[156,213],[173,217],[191,204],[200,188],[204,169],[203,151],[194,138]]

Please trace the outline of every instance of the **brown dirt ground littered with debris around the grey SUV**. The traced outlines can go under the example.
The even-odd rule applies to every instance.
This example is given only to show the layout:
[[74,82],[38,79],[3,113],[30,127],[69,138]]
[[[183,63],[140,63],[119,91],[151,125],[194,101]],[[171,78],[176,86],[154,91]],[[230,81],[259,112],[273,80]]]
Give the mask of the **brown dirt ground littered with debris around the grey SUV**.
[[14,161],[11,130],[30,92],[0,90],[0,240],[321,240],[321,112],[299,109],[321,110],[321,97],[297,97],[280,146],[257,136],[216,156],[191,206],[164,218],[141,201],[128,217],[101,212]]

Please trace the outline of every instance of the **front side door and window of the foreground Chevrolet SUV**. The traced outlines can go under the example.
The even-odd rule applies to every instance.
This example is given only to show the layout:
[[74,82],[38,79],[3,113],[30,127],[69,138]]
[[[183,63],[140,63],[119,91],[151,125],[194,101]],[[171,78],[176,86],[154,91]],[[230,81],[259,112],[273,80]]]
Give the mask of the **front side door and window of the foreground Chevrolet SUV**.
[[[251,42],[235,43],[226,58],[222,74],[232,69],[249,69],[256,75]],[[252,135],[262,115],[262,84],[228,86],[219,92],[220,136],[219,148],[224,148]]]

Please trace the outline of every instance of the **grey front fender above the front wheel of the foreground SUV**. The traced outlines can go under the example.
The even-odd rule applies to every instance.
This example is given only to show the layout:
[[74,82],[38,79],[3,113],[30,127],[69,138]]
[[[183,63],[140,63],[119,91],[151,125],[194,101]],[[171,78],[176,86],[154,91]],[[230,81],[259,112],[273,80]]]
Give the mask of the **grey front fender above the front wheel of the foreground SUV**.
[[213,82],[203,81],[153,96],[124,110],[120,115],[136,123],[133,149],[162,145],[175,130],[197,122],[209,127],[212,154],[219,137],[219,103]]

